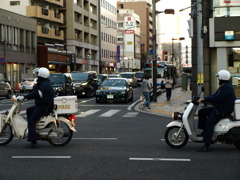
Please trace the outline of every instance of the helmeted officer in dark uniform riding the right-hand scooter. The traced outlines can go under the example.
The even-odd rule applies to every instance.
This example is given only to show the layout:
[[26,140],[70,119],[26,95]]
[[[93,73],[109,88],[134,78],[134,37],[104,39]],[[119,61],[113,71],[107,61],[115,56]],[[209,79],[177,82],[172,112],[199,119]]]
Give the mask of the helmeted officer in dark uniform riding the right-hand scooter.
[[208,152],[211,150],[210,144],[212,141],[214,126],[224,117],[229,116],[234,109],[236,100],[235,92],[230,80],[230,73],[227,70],[221,70],[216,77],[219,80],[218,90],[210,96],[200,98],[198,102],[210,102],[213,107],[200,109],[198,112],[199,122],[198,128],[203,129],[203,132],[198,136],[203,136],[205,145],[198,152]]

